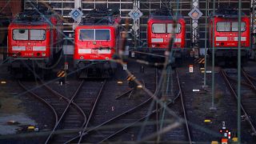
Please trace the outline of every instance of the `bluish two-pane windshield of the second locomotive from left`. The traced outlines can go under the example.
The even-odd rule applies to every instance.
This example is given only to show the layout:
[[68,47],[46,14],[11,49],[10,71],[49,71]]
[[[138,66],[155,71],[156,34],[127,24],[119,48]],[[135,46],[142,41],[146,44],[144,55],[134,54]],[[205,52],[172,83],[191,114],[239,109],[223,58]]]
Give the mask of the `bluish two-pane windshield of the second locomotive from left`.
[[81,41],[109,41],[110,30],[103,29],[85,29],[80,30],[79,40]]

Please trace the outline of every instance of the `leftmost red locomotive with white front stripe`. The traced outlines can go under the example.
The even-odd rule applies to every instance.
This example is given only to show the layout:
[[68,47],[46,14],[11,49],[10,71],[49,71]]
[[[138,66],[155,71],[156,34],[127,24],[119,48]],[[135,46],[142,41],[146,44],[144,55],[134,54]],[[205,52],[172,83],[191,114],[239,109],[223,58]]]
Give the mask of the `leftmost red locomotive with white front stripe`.
[[61,32],[62,21],[45,7],[18,14],[8,28],[11,73],[19,77],[31,70],[48,72],[62,51]]

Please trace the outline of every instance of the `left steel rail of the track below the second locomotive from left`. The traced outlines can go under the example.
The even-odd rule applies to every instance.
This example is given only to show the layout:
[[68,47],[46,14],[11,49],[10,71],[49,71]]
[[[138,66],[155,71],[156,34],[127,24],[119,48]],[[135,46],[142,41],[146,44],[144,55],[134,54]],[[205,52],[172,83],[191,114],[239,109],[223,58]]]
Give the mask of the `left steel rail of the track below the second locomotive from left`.
[[80,83],[80,85],[78,86],[78,89],[74,92],[72,98],[70,99],[70,102],[68,103],[68,105],[66,106],[66,109],[62,112],[62,116],[61,118],[58,119],[57,124],[54,126],[54,129],[50,132],[48,138],[46,139],[46,143],[50,142],[50,138],[54,135],[54,131],[56,130],[56,128],[58,127],[59,123],[62,121],[62,118],[64,118],[64,115],[66,115],[66,111],[70,108],[71,103],[74,101],[74,98],[78,95],[79,91],[81,90],[83,84],[84,84],[84,80],[82,80],[82,82]]

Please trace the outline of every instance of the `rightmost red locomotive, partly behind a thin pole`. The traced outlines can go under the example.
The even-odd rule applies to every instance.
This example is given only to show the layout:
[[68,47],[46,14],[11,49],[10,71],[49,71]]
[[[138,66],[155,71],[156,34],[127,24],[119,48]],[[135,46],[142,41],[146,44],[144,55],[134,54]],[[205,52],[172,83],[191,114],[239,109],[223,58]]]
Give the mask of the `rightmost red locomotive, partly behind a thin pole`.
[[[213,31],[214,25],[214,31]],[[238,54],[238,10],[233,8],[218,9],[210,17],[210,47],[218,58],[234,58]],[[242,13],[241,50],[246,59],[250,50],[250,18]]]

